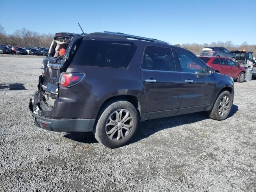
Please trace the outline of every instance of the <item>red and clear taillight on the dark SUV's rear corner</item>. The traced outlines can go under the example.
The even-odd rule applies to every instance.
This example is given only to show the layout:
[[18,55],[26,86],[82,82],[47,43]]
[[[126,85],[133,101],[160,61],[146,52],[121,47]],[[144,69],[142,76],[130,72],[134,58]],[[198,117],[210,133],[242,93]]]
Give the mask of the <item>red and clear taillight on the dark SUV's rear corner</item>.
[[60,87],[70,87],[80,83],[84,78],[83,73],[61,73]]

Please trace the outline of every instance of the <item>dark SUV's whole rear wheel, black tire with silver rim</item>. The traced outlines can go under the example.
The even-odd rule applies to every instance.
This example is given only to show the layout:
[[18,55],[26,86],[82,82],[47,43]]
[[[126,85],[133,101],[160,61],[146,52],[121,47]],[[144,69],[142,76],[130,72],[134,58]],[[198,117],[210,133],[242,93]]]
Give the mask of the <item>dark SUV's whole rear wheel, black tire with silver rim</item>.
[[136,133],[138,121],[138,112],[130,102],[112,100],[100,111],[93,134],[104,146],[118,148]]

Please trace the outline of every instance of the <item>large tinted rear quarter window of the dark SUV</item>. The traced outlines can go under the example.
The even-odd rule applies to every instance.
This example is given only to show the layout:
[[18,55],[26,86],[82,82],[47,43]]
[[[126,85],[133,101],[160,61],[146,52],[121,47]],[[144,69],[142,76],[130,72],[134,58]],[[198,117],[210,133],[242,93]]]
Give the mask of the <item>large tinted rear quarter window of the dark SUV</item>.
[[84,41],[72,65],[125,68],[133,50],[133,42]]

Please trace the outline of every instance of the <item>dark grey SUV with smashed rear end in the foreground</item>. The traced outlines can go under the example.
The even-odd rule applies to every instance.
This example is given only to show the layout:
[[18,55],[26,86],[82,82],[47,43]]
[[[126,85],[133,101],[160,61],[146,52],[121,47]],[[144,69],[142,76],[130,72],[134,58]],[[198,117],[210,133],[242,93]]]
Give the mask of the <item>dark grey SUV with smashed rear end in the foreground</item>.
[[233,79],[183,48],[113,32],[57,33],[29,108],[38,127],[93,132],[116,148],[140,121],[200,111],[224,120],[233,99]]

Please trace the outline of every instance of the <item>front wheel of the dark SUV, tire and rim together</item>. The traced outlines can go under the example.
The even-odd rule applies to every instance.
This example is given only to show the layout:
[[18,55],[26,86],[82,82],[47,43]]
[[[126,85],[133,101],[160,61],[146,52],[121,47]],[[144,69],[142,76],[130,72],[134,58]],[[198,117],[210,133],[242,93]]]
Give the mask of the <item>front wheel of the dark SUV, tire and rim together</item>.
[[232,95],[229,91],[223,91],[216,99],[212,110],[208,112],[210,118],[222,121],[227,118],[232,107]]

